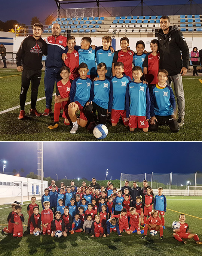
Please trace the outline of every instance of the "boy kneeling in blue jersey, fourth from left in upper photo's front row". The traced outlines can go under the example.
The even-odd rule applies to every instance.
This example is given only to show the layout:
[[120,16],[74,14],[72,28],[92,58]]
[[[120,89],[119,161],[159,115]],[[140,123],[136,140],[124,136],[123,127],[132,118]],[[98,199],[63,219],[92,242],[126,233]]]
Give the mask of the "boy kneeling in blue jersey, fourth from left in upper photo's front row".
[[116,126],[119,122],[119,117],[122,117],[123,124],[128,127],[128,118],[126,117],[125,97],[126,86],[132,81],[127,75],[123,75],[124,66],[123,62],[114,63],[115,76],[111,77],[113,84],[113,103],[111,109],[111,124]]

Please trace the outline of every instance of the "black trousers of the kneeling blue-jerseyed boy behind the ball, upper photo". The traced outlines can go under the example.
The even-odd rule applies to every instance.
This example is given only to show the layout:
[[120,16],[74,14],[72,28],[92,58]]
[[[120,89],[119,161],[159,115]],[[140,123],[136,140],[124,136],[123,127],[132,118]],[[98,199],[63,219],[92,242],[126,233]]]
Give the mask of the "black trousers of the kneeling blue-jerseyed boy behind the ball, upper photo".
[[89,122],[96,122],[96,110],[98,111],[99,123],[105,125],[107,120],[107,109],[98,106],[97,104],[95,104],[95,102],[92,102],[92,104],[89,104],[88,106],[84,107],[85,116],[87,117]]

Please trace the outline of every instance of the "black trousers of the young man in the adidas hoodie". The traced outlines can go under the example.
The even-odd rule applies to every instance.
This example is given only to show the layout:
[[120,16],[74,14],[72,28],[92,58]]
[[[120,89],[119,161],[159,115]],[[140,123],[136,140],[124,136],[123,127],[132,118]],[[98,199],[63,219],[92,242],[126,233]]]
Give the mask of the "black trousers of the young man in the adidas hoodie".
[[27,91],[30,87],[31,81],[31,108],[36,108],[36,101],[38,96],[39,84],[41,81],[42,71],[40,70],[28,70],[22,71],[22,85],[20,92],[20,109],[25,110],[25,101],[27,98]]

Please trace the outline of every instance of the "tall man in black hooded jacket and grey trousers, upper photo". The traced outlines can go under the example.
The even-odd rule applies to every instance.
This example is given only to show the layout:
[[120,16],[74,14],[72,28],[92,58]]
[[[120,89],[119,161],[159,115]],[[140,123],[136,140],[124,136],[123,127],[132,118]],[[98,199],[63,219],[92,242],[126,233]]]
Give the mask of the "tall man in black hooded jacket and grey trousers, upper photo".
[[[174,84],[178,105],[178,126],[184,124],[184,90],[182,75],[185,75],[189,66],[189,48],[183,34],[176,25],[170,26],[168,16],[160,18],[158,33],[160,51],[160,69],[166,69],[169,80]],[[182,54],[182,58],[181,58]],[[167,81],[168,82],[168,81]]]

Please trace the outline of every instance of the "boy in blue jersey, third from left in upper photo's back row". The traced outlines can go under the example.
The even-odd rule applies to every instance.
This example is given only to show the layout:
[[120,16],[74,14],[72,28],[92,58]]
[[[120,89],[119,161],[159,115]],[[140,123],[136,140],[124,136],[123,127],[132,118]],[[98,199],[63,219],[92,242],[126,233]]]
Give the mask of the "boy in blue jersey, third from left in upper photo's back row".
[[[96,63],[97,65],[104,62],[107,66],[106,77],[110,78],[112,74],[112,61],[114,57],[114,52],[110,50],[111,36],[104,36],[102,38],[102,48],[96,51]],[[96,50],[96,49],[95,49]]]

